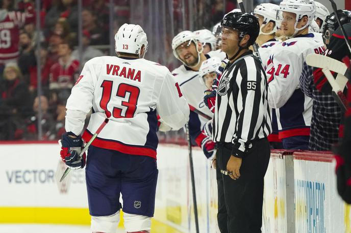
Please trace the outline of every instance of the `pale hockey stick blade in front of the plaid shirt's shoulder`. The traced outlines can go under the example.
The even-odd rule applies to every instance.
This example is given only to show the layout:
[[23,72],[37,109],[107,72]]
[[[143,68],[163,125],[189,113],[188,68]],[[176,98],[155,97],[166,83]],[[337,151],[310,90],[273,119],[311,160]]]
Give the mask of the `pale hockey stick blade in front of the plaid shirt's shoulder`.
[[322,69],[328,68],[330,71],[338,73],[335,80],[339,84],[340,89],[344,89],[346,82],[348,81],[348,78],[345,77],[347,75],[347,66],[344,63],[339,62],[336,59],[332,59],[332,57],[316,53],[309,54],[306,57],[306,63],[309,66]]

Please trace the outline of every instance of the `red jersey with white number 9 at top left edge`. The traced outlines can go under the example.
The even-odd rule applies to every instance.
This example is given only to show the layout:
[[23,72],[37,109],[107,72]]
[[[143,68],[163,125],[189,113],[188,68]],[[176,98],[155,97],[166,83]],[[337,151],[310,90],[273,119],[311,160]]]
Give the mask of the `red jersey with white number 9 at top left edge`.
[[5,12],[0,15],[0,64],[16,60],[19,55],[19,28],[26,17],[22,12]]

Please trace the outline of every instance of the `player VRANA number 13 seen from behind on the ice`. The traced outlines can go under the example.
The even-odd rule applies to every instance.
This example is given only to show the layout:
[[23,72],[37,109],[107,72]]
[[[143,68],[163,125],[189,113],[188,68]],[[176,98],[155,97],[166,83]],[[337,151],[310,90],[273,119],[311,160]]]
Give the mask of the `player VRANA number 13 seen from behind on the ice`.
[[[86,182],[93,232],[116,232],[120,193],[127,232],[151,230],[158,170],[157,113],[172,128],[189,118],[189,107],[169,70],[143,59],[146,34],[139,25],[123,24],[115,35],[116,56],[88,61],[67,100],[62,160],[83,168],[78,155],[99,125],[110,121],[88,149]],[[84,120],[92,110],[81,137]]]

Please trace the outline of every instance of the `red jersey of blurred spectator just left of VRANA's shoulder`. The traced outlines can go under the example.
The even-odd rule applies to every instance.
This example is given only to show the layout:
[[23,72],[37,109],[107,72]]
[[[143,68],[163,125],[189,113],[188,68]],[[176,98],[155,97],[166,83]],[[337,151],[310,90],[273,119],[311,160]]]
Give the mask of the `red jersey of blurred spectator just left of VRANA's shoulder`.
[[49,89],[65,89],[72,88],[74,84],[74,74],[78,72],[79,61],[71,58],[67,64],[63,64],[59,59],[50,68],[49,74]]

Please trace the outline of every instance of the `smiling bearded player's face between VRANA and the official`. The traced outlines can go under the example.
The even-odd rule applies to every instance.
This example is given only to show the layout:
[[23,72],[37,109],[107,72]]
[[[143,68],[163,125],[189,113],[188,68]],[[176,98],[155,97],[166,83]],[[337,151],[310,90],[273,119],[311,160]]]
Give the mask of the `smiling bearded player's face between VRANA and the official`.
[[179,55],[187,66],[195,66],[197,64],[198,55],[196,51],[195,43],[192,41],[186,41],[175,49],[175,52]]

